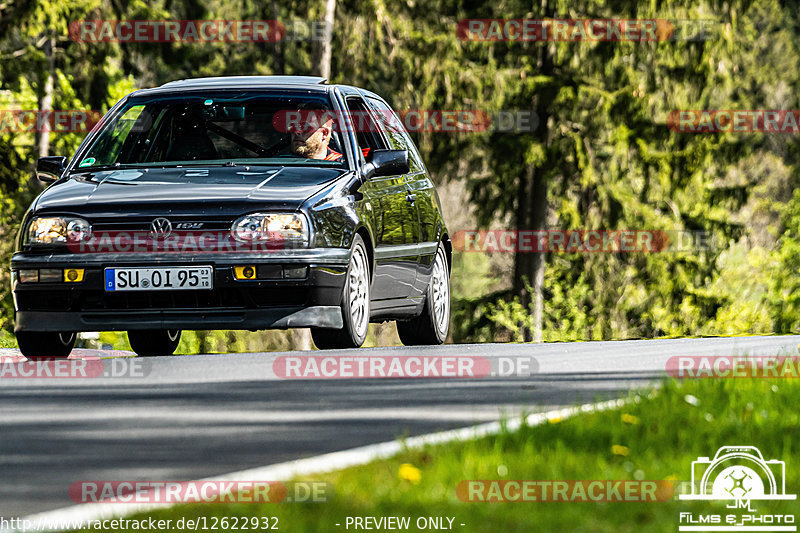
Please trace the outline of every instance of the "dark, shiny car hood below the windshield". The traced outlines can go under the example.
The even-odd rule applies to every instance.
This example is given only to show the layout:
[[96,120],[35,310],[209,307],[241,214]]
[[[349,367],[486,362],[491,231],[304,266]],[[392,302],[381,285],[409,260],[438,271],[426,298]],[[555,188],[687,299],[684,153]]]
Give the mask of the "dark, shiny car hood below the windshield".
[[346,170],[318,167],[183,167],[72,174],[43,192],[35,210],[82,214],[216,214],[295,210]]

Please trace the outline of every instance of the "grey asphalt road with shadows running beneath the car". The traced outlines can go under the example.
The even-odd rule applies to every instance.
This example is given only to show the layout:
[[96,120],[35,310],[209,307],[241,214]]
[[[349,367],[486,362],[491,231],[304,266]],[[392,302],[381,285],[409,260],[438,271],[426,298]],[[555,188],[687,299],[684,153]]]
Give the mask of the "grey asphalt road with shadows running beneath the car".
[[[173,356],[139,359],[138,368],[124,359],[117,370],[139,374],[129,377],[0,377],[0,516],[69,506],[68,488],[81,480],[208,478],[622,396],[660,380],[671,356],[797,354],[798,343],[737,337],[324,352],[473,356],[493,365],[533,358],[538,370],[523,377],[276,377],[278,357],[323,352]],[[11,355],[0,351],[0,360]]]

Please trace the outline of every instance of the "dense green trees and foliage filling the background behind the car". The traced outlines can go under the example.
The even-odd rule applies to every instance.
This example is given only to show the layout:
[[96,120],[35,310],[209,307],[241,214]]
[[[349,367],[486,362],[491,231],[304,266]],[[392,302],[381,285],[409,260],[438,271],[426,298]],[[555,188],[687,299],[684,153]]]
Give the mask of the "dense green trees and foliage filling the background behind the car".
[[[80,43],[81,19],[322,18],[324,2],[25,0],[0,5],[0,108],[107,110],[127,92],[182,77],[310,74],[316,44]],[[349,0],[336,4],[331,78],[397,109],[533,110],[529,133],[413,133],[450,231],[706,231],[718,246],[663,254],[456,254],[453,339],[612,339],[800,328],[798,137],[671,131],[675,109],[798,109],[797,6],[777,0]],[[465,18],[709,20],[706,40],[467,42]],[[69,155],[80,134],[54,133]],[[0,256],[40,185],[39,135],[0,129]],[[445,189],[443,189],[445,190]],[[461,192],[466,191],[461,194]],[[469,214],[463,201],[471,204]],[[726,251],[732,244],[734,248]],[[538,277],[537,277],[538,276]],[[462,280],[477,280],[464,282]],[[7,269],[3,313],[12,327]],[[538,300],[537,300],[538,296]],[[537,318],[537,301],[541,319]],[[385,326],[372,342],[392,342]],[[120,335],[103,341],[118,344]],[[285,348],[291,335],[191,336],[183,351]]]

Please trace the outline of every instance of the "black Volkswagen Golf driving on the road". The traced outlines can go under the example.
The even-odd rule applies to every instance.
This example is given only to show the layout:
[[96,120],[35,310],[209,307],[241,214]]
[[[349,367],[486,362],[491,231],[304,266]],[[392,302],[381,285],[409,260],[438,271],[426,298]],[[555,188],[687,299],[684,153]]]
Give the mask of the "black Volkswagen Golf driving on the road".
[[139,355],[184,329],[310,327],[358,347],[396,320],[439,344],[452,248],[436,190],[379,96],[324,79],[203,78],[136,91],[52,184],[11,261],[27,357],[66,357],[82,331],[127,331]]

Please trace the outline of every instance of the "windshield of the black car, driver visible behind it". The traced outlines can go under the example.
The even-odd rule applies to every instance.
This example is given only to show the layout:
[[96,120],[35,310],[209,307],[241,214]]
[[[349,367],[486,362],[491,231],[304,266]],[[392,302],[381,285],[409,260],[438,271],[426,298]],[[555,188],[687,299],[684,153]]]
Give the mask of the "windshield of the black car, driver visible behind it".
[[330,108],[327,95],[307,91],[132,97],[103,127],[75,170],[202,164],[342,167],[344,150],[333,122],[298,125],[286,120],[319,116],[305,110]]

